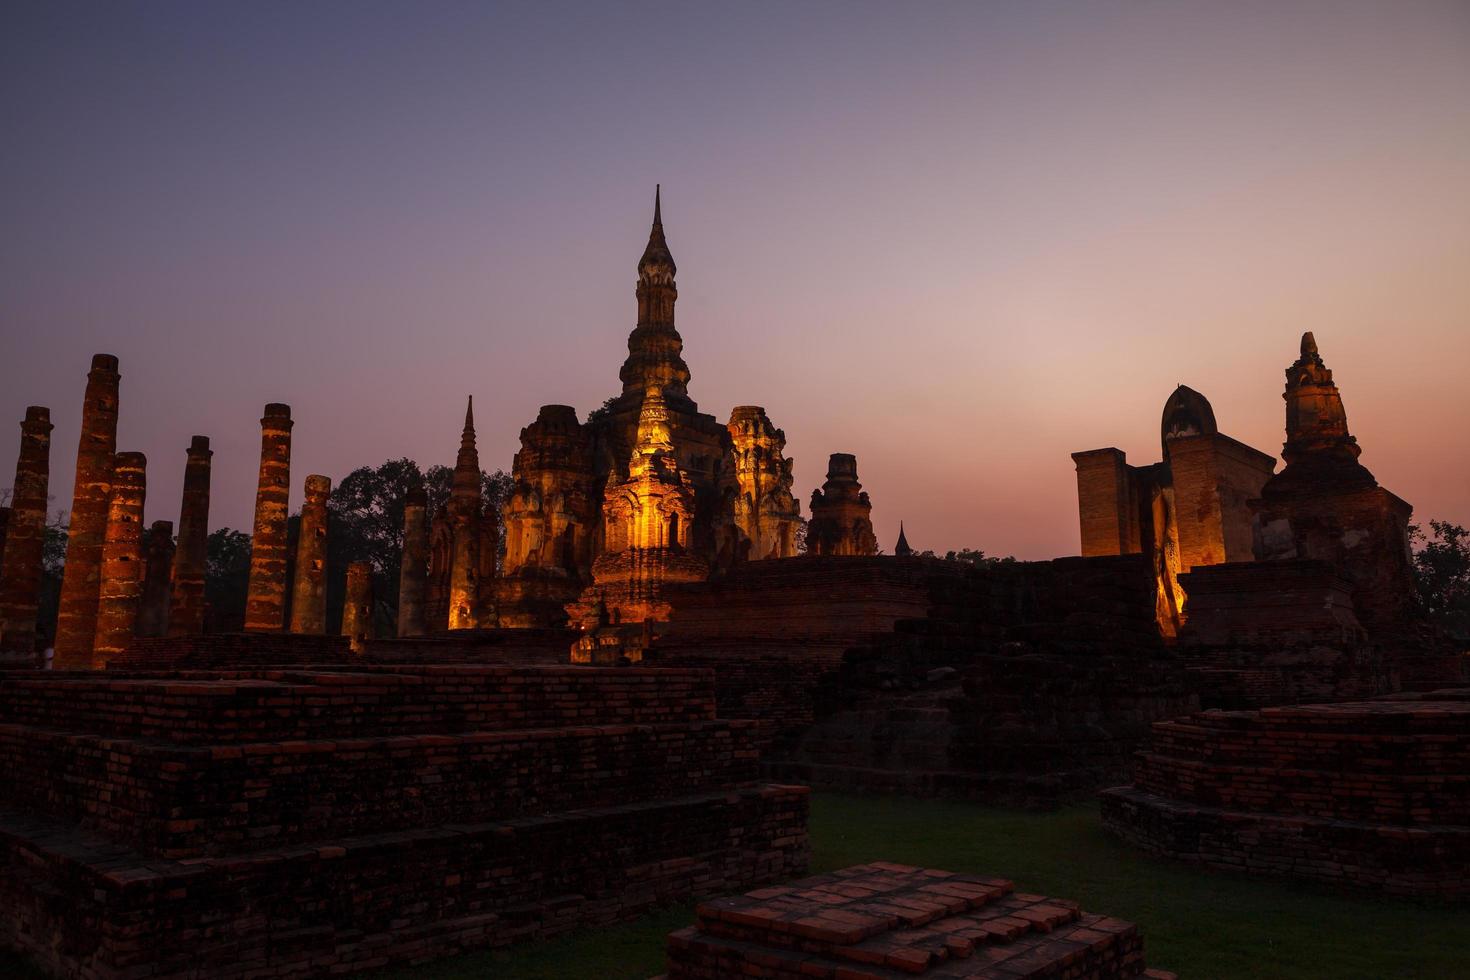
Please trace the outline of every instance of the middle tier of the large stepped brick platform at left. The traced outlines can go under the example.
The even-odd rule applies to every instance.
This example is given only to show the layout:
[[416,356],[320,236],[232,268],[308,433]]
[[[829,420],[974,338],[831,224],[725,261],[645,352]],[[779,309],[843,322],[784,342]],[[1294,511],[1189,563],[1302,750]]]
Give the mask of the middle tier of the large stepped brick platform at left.
[[751,783],[756,721],[228,746],[0,726],[7,799],[163,857],[498,820]]

